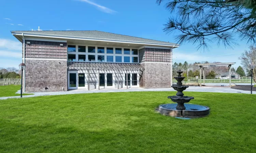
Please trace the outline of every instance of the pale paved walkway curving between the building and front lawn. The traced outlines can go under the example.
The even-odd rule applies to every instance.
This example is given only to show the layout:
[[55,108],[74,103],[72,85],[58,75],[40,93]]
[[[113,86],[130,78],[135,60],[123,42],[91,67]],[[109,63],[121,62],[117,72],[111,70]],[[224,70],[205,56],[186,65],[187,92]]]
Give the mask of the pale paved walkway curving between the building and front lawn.
[[[205,84],[206,85],[206,84]],[[26,95],[23,97],[37,97],[37,96],[50,96],[50,95],[68,95],[68,94],[87,94],[87,93],[99,93],[99,92],[131,92],[131,91],[175,91],[173,88],[108,88],[108,89],[76,89],[70,91],[57,91],[57,92],[32,92],[31,94],[34,95]],[[190,86],[185,91],[195,91],[195,92],[222,92],[222,93],[242,93],[242,94],[251,94],[251,91],[244,91],[244,90],[237,90],[231,89],[229,87],[211,87],[211,86]],[[20,93],[20,91],[16,92],[16,94]],[[256,94],[256,91],[253,91],[253,94]],[[0,97],[1,99],[8,99],[8,98],[20,98],[20,96],[13,96],[13,97]]]

